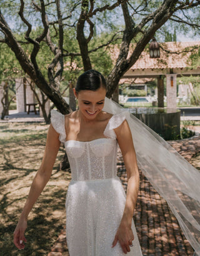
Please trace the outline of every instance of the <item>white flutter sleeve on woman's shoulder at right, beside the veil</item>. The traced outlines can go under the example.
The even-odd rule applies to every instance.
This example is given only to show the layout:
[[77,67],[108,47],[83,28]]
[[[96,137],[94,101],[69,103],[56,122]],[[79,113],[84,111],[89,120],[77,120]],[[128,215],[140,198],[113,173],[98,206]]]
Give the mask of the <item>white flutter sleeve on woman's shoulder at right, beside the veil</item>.
[[116,138],[116,133],[114,132],[114,129],[119,127],[124,120],[129,120],[130,114],[128,111],[123,111],[118,114],[114,114],[111,119],[109,120],[108,124],[106,125],[106,129],[104,130],[104,135],[106,137],[110,137],[112,139]]

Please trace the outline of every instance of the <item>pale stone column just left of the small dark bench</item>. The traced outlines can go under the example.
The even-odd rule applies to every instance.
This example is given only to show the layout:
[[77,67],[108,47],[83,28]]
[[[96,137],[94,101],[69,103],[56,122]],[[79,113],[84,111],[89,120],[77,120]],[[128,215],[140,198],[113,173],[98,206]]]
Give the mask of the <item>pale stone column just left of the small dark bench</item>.
[[17,112],[26,112],[26,92],[23,78],[15,79]]

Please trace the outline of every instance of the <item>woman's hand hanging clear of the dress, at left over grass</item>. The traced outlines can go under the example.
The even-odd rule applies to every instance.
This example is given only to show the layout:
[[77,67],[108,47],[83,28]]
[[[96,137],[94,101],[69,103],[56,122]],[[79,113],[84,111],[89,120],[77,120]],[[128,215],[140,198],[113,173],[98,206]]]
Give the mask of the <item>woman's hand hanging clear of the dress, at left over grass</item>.
[[24,237],[24,232],[27,228],[27,221],[26,220],[19,220],[17,223],[17,227],[14,230],[14,244],[18,249],[24,249],[25,245],[23,243],[26,242],[26,238]]

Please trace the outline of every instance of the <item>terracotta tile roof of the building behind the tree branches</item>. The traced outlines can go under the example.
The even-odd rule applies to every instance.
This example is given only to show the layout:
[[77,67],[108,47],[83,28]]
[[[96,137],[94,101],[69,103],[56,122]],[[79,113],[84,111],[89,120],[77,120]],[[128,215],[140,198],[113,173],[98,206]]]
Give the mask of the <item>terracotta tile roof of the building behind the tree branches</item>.
[[[192,46],[200,46],[200,41],[196,42],[167,42],[167,43],[160,43],[161,48],[163,48],[166,51],[170,52],[178,52],[184,50],[190,50]],[[134,48],[134,45],[132,46]],[[137,69],[163,69],[163,68],[186,68],[189,67],[189,61],[188,58],[191,55],[191,52],[189,53],[168,53],[164,51],[163,49],[160,49],[161,51],[161,57],[160,58],[150,58],[149,57],[149,49],[144,50],[143,53],[141,53],[141,56],[139,57],[138,61],[131,67],[133,70]],[[114,46],[111,50],[111,58],[116,61],[119,55],[119,48],[118,46]],[[129,56],[128,56],[129,57]]]

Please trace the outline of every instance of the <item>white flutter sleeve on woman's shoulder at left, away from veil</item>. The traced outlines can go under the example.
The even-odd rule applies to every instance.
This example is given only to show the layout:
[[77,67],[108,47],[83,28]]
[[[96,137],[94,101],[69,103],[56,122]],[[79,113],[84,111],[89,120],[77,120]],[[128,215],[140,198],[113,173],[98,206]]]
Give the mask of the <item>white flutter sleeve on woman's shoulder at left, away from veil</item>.
[[64,143],[66,141],[64,115],[54,109],[51,110],[51,124],[56,132],[59,133],[59,141]]

